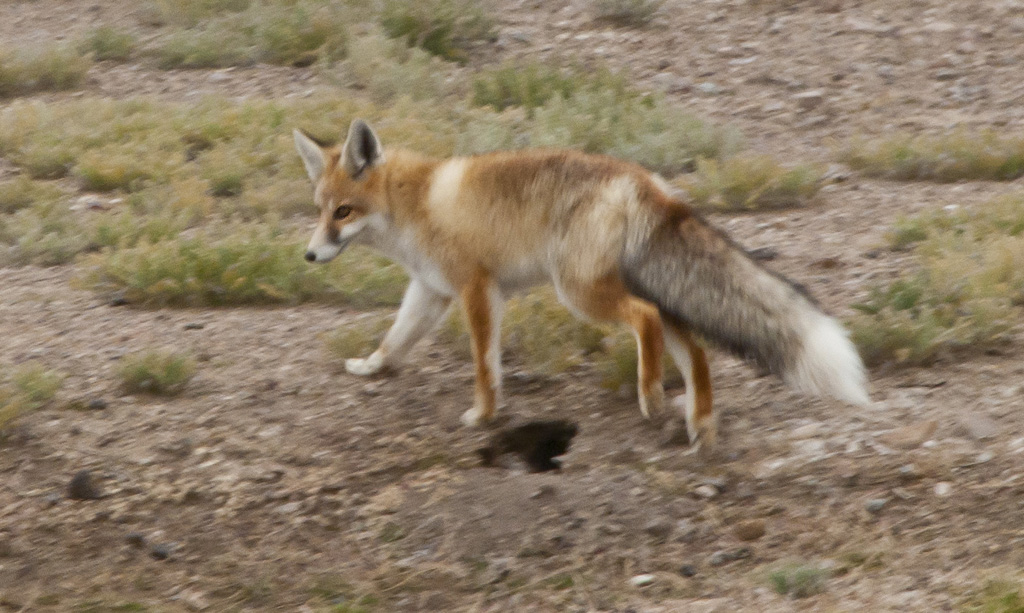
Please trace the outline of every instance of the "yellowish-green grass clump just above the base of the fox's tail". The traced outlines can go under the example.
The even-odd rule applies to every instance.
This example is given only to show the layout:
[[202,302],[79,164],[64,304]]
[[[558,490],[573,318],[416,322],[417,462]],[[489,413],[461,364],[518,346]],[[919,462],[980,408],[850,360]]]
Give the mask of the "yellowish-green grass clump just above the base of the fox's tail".
[[821,188],[821,171],[812,166],[786,168],[767,156],[697,160],[696,172],[681,186],[700,207],[755,211],[804,207]]

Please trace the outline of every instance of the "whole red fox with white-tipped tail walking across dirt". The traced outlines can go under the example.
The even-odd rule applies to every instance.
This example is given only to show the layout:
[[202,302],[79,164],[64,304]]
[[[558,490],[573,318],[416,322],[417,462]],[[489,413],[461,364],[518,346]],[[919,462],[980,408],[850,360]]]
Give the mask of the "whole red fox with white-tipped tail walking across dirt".
[[410,276],[380,346],[345,361],[352,375],[397,366],[458,301],[475,369],[461,421],[483,426],[502,401],[504,301],[550,282],[575,316],[632,329],[644,418],[664,410],[669,352],[697,450],[718,439],[706,342],[799,391],[869,403],[864,365],[843,326],[640,165],[554,148],[437,159],[385,149],[360,119],[340,146],[293,135],[319,210],[305,259],[327,263],[359,244]]

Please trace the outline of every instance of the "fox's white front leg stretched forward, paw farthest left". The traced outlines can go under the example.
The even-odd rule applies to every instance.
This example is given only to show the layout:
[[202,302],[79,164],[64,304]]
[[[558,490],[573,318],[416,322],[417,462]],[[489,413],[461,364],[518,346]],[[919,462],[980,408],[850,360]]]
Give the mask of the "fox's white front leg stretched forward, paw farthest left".
[[368,377],[394,366],[409,354],[417,341],[432,331],[452,304],[452,299],[413,279],[398,307],[391,329],[384,335],[381,346],[367,358],[345,360],[345,370]]

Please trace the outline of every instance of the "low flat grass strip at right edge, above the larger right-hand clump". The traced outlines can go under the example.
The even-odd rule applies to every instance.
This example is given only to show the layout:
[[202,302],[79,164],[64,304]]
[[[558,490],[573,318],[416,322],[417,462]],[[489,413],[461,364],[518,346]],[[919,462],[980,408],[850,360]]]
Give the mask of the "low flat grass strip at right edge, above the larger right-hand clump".
[[903,181],[1012,181],[1024,176],[1024,136],[961,130],[940,136],[857,139],[839,154],[868,176]]

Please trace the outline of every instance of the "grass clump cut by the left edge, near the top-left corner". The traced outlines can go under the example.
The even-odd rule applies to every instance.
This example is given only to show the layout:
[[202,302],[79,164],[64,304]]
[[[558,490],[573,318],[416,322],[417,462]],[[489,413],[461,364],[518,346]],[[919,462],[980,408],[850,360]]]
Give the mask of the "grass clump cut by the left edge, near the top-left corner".
[[75,89],[92,60],[70,46],[0,49],[0,98]]

